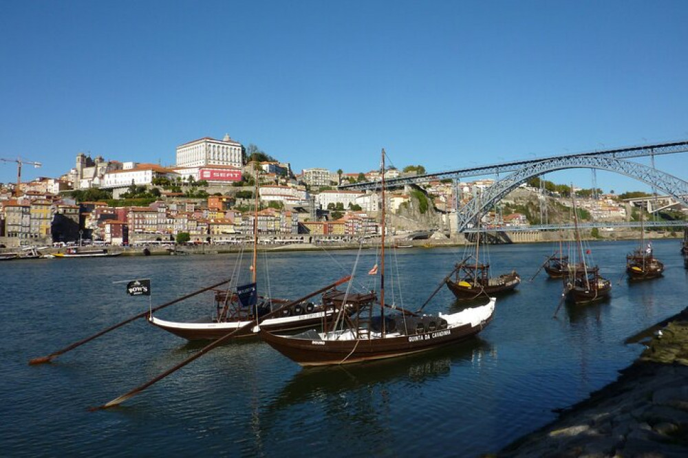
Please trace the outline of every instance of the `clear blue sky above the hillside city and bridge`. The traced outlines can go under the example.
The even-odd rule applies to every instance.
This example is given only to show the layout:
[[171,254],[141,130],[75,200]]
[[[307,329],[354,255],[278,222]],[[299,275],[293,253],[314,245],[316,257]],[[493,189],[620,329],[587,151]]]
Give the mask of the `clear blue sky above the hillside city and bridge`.
[[[295,171],[383,147],[446,171],[686,140],[687,23],[688,1],[3,0],[0,157],[43,163],[24,179],[82,151],[171,165],[229,133]],[[656,166],[688,180],[686,153]]]

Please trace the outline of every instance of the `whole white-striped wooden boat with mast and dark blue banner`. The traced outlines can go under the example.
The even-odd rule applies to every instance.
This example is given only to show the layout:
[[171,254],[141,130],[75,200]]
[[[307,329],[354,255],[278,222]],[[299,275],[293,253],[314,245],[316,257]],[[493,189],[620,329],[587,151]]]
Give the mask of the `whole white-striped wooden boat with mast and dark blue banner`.
[[[151,325],[168,331],[175,336],[186,340],[216,340],[226,336],[237,329],[241,331],[235,335],[237,338],[257,337],[261,328],[272,331],[292,332],[299,329],[321,325],[323,319],[338,312],[348,314],[352,311],[351,303],[356,301],[373,301],[374,298],[366,298],[354,295],[348,298],[347,303],[338,300],[338,292],[327,292],[323,295],[321,303],[304,302],[297,303],[290,308],[283,309],[279,316],[270,316],[261,320],[261,316],[277,312],[278,309],[290,301],[279,298],[259,296],[257,293],[257,246],[258,246],[258,191],[256,181],[255,190],[255,218],[253,220],[253,256],[250,265],[251,280],[245,285],[233,285],[227,290],[215,290],[215,313],[199,318],[193,322],[175,322],[162,320],[152,314],[148,321]],[[181,254],[178,250],[171,250],[170,254]],[[274,315],[274,314],[273,314]],[[258,321],[255,326],[248,326],[252,321]]]

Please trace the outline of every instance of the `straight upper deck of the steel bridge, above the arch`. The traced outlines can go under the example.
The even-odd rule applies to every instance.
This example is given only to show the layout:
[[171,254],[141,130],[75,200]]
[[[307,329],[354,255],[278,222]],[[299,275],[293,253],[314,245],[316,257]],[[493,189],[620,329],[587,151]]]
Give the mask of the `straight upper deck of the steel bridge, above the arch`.
[[[402,177],[402,178],[392,178],[386,179],[385,184],[390,188],[405,186],[407,184],[418,184],[427,183],[429,181],[437,179],[462,179],[466,177],[479,177],[484,175],[499,175],[502,173],[518,171],[522,168],[535,166],[536,164],[541,164],[543,162],[554,161],[554,160],[568,160],[571,164],[575,164],[578,161],[585,161],[590,157],[606,158],[609,160],[623,160],[630,159],[632,157],[647,157],[656,156],[663,154],[673,154],[673,153],[685,153],[688,151],[688,141],[683,142],[671,142],[671,143],[659,143],[659,144],[649,144],[643,146],[630,146],[627,148],[619,149],[608,149],[601,151],[590,151],[588,153],[577,153],[571,155],[559,155],[559,156],[549,156],[540,157],[531,160],[520,160],[513,162],[504,162],[503,164],[492,164],[486,166],[476,166],[470,168],[460,168],[458,170],[438,172],[438,173],[427,173],[426,175],[416,175],[413,177]],[[563,168],[572,168],[574,165]],[[579,167],[589,167],[586,165],[580,165]],[[615,170],[613,170],[615,171]],[[536,175],[533,175],[536,176]],[[345,184],[339,186],[340,189],[351,189],[351,190],[373,190],[380,188],[379,182],[367,182],[367,183],[356,183],[356,184]]]

